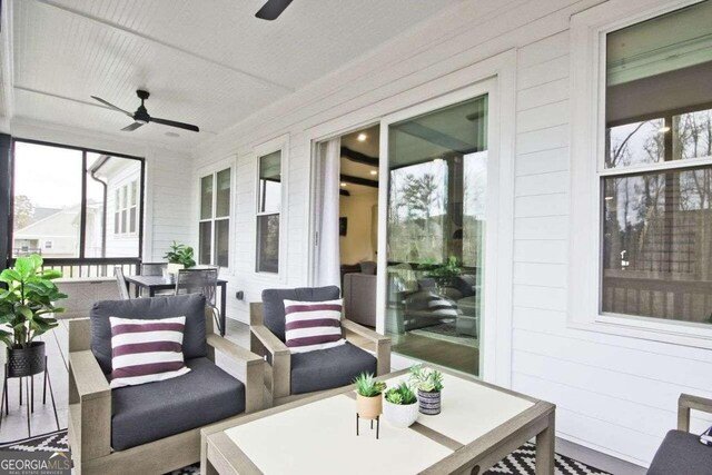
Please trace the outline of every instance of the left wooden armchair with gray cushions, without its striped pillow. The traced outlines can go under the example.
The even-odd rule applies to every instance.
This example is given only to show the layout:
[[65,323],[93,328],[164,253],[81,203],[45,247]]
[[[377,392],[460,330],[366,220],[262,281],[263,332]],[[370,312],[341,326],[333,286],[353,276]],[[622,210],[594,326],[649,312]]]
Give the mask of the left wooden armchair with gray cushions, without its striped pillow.
[[[190,373],[139,386],[109,387],[110,316],[186,317]],[[241,380],[215,364],[229,358]],[[166,473],[200,459],[200,428],[263,405],[263,358],[212,331],[205,296],[107,300],[69,323],[69,437],[81,474]]]

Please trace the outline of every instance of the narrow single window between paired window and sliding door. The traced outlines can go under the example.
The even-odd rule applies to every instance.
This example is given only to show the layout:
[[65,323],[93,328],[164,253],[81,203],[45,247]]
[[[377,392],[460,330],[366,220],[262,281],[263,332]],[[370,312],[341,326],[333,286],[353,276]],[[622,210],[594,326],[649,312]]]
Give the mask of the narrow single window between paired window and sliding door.
[[258,273],[279,273],[281,211],[281,150],[258,158],[257,263]]

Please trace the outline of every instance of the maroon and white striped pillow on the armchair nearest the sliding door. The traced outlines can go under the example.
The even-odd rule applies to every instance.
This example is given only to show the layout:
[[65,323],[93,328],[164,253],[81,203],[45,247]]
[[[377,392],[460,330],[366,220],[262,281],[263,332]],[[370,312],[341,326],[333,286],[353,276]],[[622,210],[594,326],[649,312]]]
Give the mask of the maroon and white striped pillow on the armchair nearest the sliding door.
[[285,339],[291,353],[314,352],[344,345],[342,299],[285,300]]

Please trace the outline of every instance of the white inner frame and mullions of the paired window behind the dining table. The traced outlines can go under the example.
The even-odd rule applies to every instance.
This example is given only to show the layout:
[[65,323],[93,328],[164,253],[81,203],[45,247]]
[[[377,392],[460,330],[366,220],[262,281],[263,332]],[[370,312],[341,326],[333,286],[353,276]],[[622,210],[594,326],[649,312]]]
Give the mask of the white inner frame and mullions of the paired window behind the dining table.
[[[217,214],[217,204],[218,204],[218,194],[217,194],[217,185],[218,185],[218,174],[229,170],[230,176],[230,190],[229,190],[229,211],[226,216],[216,216]],[[202,218],[202,179],[206,177],[212,177],[212,196],[210,198],[210,217]],[[228,221],[228,249],[227,249],[227,266],[218,266],[220,269],[225,269],[226,271],[230,271],[233,269],[233,240],[231,236],[234,236],[233,228],[233,212],[235,209],[235,162],[234,160],[222,160],[210,168],[204,168],[198,172],[198,255],[196,261],[201,265],[209,266],[218,266],[216,263],[216,224],[217,221]],[[202,222],[210,222],[210,261],[207,264],[200,263],[200,225]]]

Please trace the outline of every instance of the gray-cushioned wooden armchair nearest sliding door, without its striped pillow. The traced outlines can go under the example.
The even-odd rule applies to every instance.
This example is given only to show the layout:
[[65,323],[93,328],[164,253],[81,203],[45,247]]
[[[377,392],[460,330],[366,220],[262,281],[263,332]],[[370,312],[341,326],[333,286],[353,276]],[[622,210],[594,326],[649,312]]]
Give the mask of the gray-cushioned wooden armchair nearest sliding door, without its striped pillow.
[[362,372],[390,372],[390,339],[348,319],[346,337],[366,342],[367,350],[347,342],[334,348],[291,354],[285,345],[284,300],[320,301],[339,298],[339,288],[267,289],[250,305],[250,349],[267,357],[266,386],[275,405],[309,393],[349,385]]

